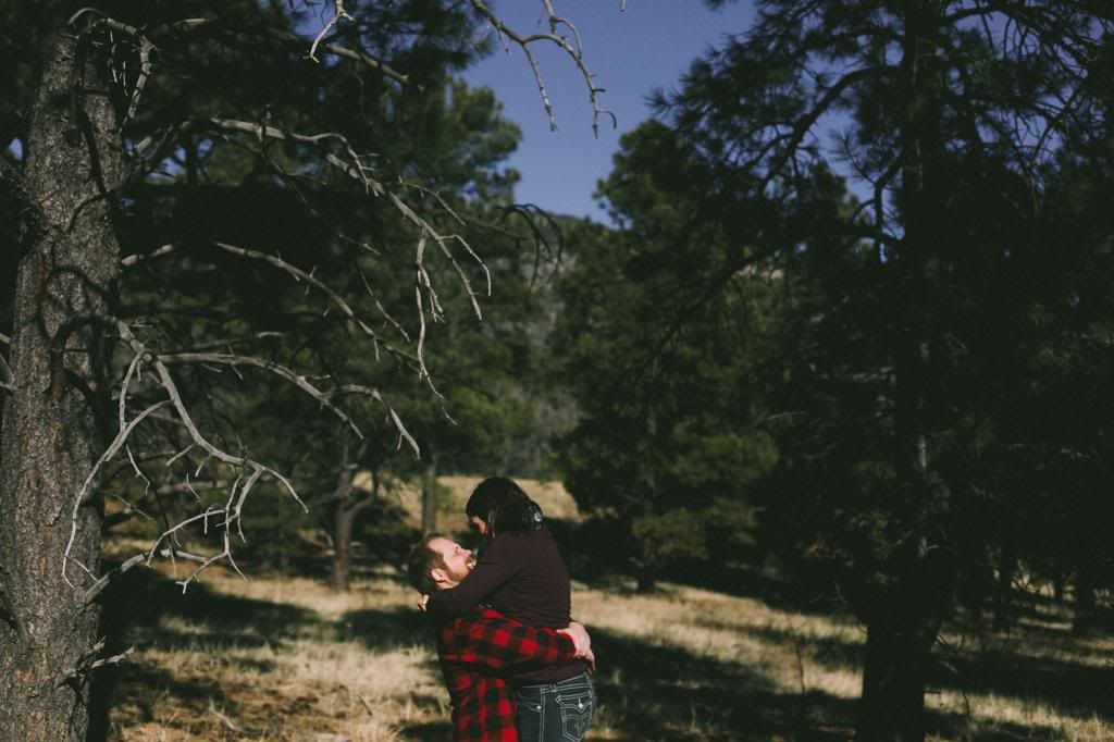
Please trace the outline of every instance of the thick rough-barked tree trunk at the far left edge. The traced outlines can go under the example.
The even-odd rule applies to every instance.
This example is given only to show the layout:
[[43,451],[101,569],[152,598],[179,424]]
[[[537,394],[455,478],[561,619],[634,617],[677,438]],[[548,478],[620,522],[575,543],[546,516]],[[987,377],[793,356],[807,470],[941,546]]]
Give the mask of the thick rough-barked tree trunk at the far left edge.
[[[55,28],[63,9],[43,3]],[[11,368],[0,436],[0,739],[82,742],[88,665],[99,609],[85,590],[100,567],[101,508],[75,495],[104,439],[96,400],[107,400],[102,326],[119,273],[110,209],[121,173],[116,116],[74,29],[42,47],[31,111],[26,185],[37,223],[22,238],[16,276]],[[91,52],[90,52],[91,53]],[[53,345],[53,343],[58,343]],[[51,352],[55,348],[56,351]],[[79,391],[79,389],[81,391]],[[88,399],[86,398],[88,396]],[[94,490],[96,491],[96,490]],[[63,578],[62,558],[76,526]]]

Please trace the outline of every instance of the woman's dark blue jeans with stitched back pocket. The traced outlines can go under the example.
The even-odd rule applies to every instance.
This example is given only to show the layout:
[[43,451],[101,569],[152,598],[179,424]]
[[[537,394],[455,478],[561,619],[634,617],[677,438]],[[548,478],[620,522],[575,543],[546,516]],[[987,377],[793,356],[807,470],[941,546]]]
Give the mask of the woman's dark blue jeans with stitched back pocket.
[[596,689],[587,673],[557,683],[515,689],[521,742],[580,742],[596,715]]

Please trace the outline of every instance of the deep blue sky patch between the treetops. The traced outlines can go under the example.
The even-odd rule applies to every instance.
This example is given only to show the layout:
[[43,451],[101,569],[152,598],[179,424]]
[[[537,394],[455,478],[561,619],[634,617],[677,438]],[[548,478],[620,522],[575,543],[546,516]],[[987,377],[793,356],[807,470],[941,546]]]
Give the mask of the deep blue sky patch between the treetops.
[[[520,33],[548,32],[541,0],[494,0],[508,26]],[[673,88],[693,59],[724,33],[745,31],[753,18],[751,0],[710,11],[702,0],[554,0],[584,39],[585,58],[606,88],[600,105],[615,113],[618,128],[602,119],[599,138],[592,131],[592,104],[575,65],[551,45],[537,45],[537,57],[553,101],[557,130],[538,95],[526,56],[516,47],[468,69],[473,86],[487,86],[502,100],[505,116],[522,129],[522,141],[510,165],[522,174],[516,199],[556,214],[607,222],[592,197],[596,182],[612,167],[619,136],[652,116],[646,96],[654,88]]]

